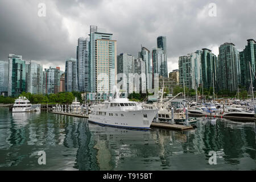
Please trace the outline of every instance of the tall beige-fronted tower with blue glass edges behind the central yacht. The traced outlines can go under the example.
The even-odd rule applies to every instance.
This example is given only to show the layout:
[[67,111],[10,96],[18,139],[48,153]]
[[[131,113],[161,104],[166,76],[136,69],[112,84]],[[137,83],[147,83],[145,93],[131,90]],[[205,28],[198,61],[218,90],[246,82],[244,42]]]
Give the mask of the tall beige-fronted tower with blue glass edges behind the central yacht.
[[90,26],[89,42],[89,90],[109,93],[117,84],[117,41],[113,34],[96,32]]

